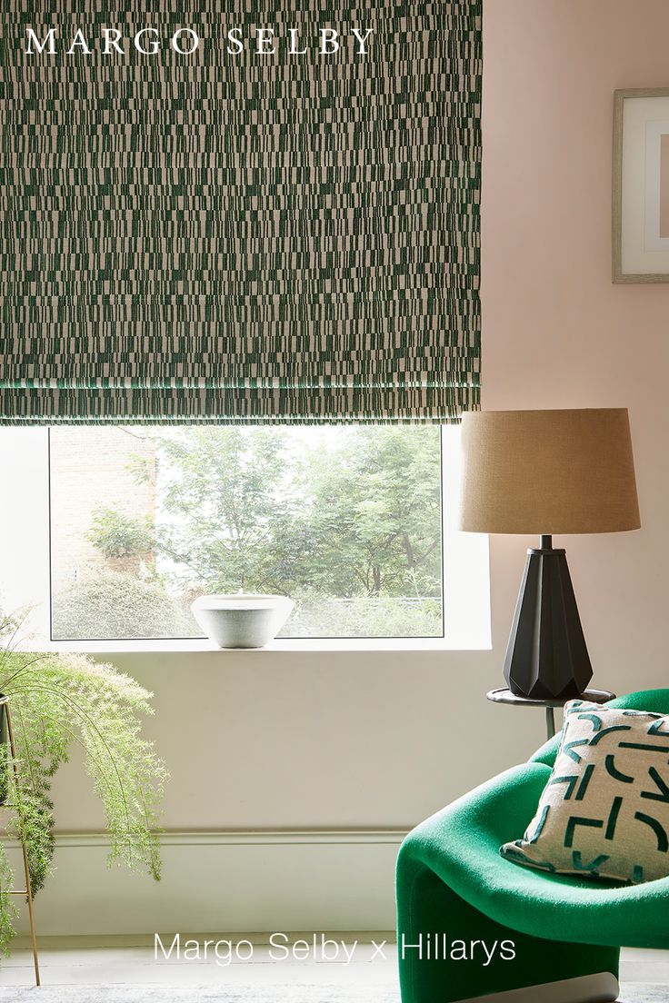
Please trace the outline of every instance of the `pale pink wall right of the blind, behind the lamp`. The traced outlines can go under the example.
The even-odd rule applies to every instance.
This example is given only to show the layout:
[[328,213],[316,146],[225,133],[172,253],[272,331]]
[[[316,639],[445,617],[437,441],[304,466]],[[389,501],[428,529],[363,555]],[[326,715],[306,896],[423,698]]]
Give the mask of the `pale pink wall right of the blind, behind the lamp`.
[[643,529],[564,543],[596,679],[669,685],[669,285],[611,282],[613,91],[669,85],[669,3],[483,0],[483,406],[629,407]]

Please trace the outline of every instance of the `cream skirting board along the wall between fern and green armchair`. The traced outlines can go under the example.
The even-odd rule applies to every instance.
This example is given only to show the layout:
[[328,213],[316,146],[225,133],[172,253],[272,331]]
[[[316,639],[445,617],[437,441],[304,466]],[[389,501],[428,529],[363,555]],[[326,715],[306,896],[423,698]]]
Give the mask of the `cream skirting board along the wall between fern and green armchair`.
[[[38,933],[392,930],[404,830],[168,832],[162,880],[106,867],[103,834],[57,834]],[[10,848],[18,865],[18,851]],[[18,871],[17,871],[18,874]],[[22,911],[17,928],[27,930]]]

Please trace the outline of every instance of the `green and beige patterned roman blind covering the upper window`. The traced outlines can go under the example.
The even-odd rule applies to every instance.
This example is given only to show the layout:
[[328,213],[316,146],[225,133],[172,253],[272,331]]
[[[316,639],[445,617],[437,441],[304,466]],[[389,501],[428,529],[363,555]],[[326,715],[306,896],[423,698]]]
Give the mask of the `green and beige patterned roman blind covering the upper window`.
[[480,16],[4,0],[0,422],[477,407]]

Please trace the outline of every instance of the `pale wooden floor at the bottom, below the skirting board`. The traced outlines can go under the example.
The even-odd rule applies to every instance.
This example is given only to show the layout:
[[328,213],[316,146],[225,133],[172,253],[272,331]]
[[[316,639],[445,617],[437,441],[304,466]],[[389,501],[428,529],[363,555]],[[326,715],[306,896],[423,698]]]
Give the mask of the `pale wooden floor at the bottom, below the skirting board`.
[[[212,934],[189,935],[197,940],[216,940]],[[221,935],[223,937],[224,935]],[[230,935],[229,935],[230,936]],[[242,935],[231,939],[237,941]],[[357,940],[358,946],[349,964],[313,960],[273,960],[266,935],[244,935],[253,942],[252,961],[233,961],[222,968],[215,958],[205,960],[170,960],[153,957],[152,939],[145,937],[43,937],[40,940],[40,964],[44,985],[162,983],[171,985],[220,985],[222,972],[228,984],[234,982],[259,985],[299,985],[300,983],[387,986],[397,984],[396,950],[386,944],[384,957],[370,943],[379,943],[391,934],[332,934],[348,945]],[[296,939],[299,934],[291,935]],[[305,935],[308,939],[311,935]],[[169,938],[163,937],[165,944]],[[25,940],[15,943],[10,958],[0,963],[0,986],[27,986],[33,981],[32,956]],[[667,984],[669,999],[669,951],[624,950],[621,961],[621,982],[653,982]]]

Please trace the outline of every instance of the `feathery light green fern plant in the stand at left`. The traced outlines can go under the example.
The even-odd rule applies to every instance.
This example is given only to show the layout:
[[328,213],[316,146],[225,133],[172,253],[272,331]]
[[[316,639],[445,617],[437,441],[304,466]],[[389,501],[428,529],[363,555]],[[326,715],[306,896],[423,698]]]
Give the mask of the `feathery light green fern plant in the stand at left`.
[[[51,778],[78,743],[98,794],[110,837],[108,864],[160,878],[158,807],[166,770],[141,737],[141,718],[152,696],[129,676],[83,655],[28,654],[13,646],[17,624],[0,618],[0,693],[9,697],[16,758],[0,746],[0,792],[20,811],[7,809],[7,833],[26,838],[33,895],[53,866]],[[19,791],[14,780],[14,765]],[[17,800],[17,793],[19,800]],[[14,936],[13,877],[0,842],[0,951]]]

